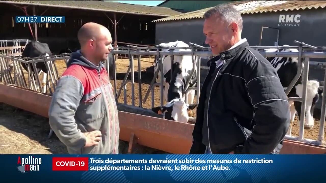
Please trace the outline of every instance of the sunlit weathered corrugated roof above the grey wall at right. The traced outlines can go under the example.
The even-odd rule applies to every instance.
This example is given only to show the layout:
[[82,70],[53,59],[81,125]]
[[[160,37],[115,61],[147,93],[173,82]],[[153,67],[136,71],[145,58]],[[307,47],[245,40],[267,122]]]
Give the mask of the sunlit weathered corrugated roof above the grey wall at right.
[[[311,9],[311,8],[324,8],[326,7],[326,1],[238,1],[229,3],[233,5],[241,14],[254,14],[263,12],[277,12],[299,9]],[[170,16],[162,19],[158,19],[152,22],[160,21],[175,21],[203,18],[204,13],[213,7],[200,9],[180,15]]]

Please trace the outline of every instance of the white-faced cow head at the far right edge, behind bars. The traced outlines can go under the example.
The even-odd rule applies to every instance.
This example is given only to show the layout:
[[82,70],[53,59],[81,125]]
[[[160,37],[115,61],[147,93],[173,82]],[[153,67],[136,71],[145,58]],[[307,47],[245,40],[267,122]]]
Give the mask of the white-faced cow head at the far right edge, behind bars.
[[[299,97],[302,97],[303,85],[299,84],[295,86],[296,93]],[[322,96],[323,86],[315,80],[308,80],[307,83],[307,97],[306,97],[306,112],[304,118],[304,129],[312,129],[314,127],[314,109],[315,105],[319,100],[319,96]],[[301,119],[301,102],[294,102],[295,109],[298,113],[299,120]]]

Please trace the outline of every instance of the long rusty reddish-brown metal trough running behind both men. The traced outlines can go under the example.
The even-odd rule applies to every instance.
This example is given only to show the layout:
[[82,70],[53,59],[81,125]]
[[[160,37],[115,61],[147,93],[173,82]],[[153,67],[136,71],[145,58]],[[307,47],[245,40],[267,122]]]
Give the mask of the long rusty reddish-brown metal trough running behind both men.
[[[52,97],[26,88],[0,83],[0,102],[48,118]],[[41,101],[41,102],[40,102]],[[192,143],[193,124],[180,123],[119,111],[120,137],[173,154],[188,154]],[[135,141],[134,141],[135,140]],[[326,154],[326,147],[284,140],[282,154]]]

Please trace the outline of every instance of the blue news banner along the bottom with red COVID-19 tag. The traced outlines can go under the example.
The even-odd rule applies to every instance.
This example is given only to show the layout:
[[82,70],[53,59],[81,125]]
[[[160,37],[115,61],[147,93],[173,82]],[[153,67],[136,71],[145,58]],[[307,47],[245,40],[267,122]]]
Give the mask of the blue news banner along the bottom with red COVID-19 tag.
[[325,182],[326,155],[0,155],[2,182]]

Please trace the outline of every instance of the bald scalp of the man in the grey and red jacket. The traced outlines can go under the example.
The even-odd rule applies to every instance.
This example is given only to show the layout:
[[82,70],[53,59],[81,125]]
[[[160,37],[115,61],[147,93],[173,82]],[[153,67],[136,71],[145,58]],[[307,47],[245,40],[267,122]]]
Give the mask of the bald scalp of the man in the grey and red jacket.
[[78,41],[81,44],[81,47],[88,41],[88,40],[100,40],[103,37],[111,37],[110,31],[94,22],[85,23],[78,31],[77,37]]

